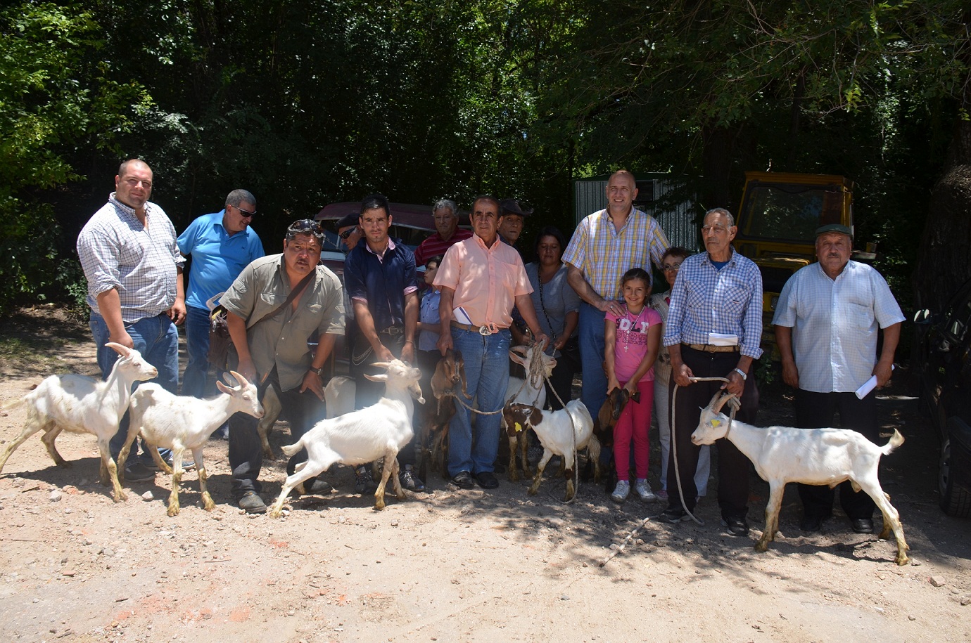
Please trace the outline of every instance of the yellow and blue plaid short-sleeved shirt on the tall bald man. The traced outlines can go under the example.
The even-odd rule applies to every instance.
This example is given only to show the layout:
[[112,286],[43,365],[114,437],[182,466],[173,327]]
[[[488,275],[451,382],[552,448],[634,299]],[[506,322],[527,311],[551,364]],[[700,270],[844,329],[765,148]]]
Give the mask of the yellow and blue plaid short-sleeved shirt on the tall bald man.
[[566,246],[563,261],[584,273],[593,290],[606,300],[619,300],[620,277],[631,268],[651,272],[668,248],[667,237],[653,216],[631,209],[620,232],[606,209],[593,212],[580,222]]

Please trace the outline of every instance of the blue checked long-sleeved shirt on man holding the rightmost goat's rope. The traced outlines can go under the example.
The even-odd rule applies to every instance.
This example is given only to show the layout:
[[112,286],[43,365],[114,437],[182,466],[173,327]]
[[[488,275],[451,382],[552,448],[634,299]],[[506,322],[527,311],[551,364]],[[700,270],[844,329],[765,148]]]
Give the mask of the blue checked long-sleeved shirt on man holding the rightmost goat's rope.
[[671,288],[664,345],[711,343],[709,333],[737,335],[753,360],[762,354],[762,274],[734,248],[721,270],[707,252],[688,257]]

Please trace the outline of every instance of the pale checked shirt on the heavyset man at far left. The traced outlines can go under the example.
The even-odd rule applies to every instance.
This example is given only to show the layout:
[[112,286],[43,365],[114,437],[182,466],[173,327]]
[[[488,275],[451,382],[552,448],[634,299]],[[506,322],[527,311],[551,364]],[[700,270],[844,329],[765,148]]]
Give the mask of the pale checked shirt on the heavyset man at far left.
[[135,210],[115,199],[94,213],[78,236],[78,256],[87,278],[87,305],[98,310],[98,295],[117,288],[121,319],[133,324],[154,317],[176,302],[177,267],[185,258],[165,210],[145,204],[148,226]]

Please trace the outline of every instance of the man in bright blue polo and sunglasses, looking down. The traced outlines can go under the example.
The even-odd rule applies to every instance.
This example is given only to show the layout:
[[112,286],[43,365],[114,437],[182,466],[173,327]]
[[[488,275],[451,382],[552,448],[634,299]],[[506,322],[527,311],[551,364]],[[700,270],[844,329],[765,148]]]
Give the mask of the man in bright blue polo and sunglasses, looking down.
[[252,194],[233,190],[226,197],[225,209],[195,219],[176,241],[183,256],[192,258],[185,297],[188,365],[183,373],[183,395],[202,398],[210,393],[206,302],[227,290],[252,260],[263,256],[263,243],[250,227],[255,214]]

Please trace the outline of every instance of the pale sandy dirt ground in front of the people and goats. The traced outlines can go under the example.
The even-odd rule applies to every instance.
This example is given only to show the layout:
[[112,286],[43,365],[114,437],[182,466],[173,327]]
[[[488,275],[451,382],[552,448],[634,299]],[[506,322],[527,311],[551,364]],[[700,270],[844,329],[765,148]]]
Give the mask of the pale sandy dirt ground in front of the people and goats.
[[[0,360],[0,402],[51,372],[96,372],[84,329],[52,324],[34,316],[0,329],[0,338],[66,338]],[[794,489],[777,542],[756,554],[768,486],[754,474],[750,537],[728,535],[715,498],[703,498],[704,526],[648,521],[601,567],[662,504],[616,505],[602,486],[582,484],[565,505],[561,479],[530,498],[527,483],[503,475],[491,492],[430,476],[429,493],[389,497],[377,512],[339,467],[332,494],[293,500],[272,520],[231,504],[227,443],[211,441],[216,509],[199,506],[190,472],[183,511],[168,518],[164,475],[127,485],[129,499],[115,504],[97,482],[91,436],[58,438],[70,469],[33,436],[0,475],[0,640],[965,641],[971,525],[938,509],[935,438],[917,402],[895,397],[900,384],[880,411],[887,433],[907,438],[882,476],[911,545],[903,567],[892,542],[855,534],[839,511],[821,533],[803,534]],[[784,393],[763,391],[759,424],[787,421]],[[0,417],[0,438],[22,421],[22,408]],[[287,441],[285,429],[272,439],[278,453]],[[655,463],[656,448],[656,489]],[[264,468],[267,500],[283,466]]]

